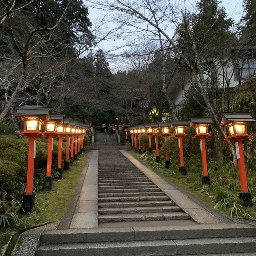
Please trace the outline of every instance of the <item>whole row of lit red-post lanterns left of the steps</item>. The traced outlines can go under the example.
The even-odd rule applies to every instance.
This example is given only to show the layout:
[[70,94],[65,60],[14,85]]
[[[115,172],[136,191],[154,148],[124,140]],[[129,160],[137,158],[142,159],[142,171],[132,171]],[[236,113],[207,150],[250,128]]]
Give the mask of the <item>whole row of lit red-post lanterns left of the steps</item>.
[[[62,138],[66,136],[66,158],[63,170],[69,170],[69,145],[71,137],[71,160],[77,160],[84,149],[84,134],[90,129],[62,114],[51,114],[52,107],[18,106],[16,116],[24,122],[24,129],[20,134],[29,138],[28,171],[26,192],[23,196],[22,208],[25,213],[31,212],[34,206],[34,159],[36,158],[36,138],[48,137],[48,155],[44,190],[52,190],[52,150],[53,137],[58,136],[58,172],[62,178]],[[44,125],[44,131],[43,129]]]

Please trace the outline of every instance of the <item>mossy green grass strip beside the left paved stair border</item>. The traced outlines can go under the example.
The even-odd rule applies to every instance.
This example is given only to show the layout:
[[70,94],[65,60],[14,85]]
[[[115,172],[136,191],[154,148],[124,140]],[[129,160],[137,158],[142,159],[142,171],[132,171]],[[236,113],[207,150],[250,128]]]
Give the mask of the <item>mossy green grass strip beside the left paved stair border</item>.
[[84,152],[70,166],[70,170],[64,171],[62,180],[54,180],[51,191],[42,191],[36,195],[36,207],[41,209],[38,223],[57,222],[63,217],[88,156],[89,152]]

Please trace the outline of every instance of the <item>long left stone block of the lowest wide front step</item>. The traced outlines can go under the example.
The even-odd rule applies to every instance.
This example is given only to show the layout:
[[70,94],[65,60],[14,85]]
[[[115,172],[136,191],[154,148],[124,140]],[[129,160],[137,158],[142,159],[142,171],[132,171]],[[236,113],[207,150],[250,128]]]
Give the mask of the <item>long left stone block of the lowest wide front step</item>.
[[162,256],[176,254],[172,240],[42,245],[36,256]]

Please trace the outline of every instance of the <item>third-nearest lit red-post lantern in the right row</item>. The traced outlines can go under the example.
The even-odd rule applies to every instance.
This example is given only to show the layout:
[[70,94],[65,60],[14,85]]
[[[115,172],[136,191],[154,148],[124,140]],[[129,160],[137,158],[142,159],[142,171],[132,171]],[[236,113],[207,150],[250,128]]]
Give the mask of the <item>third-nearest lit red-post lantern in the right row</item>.
[[178,138],[178,146],[180,151],[180,172],[182,175],[186,175],[187,171],[184,166],[184,158],[183,158],[183,144],[182,144],[182,138],[186,136],[185,134],[185,128],[188,126],[188,121],[186,120],[172,120],[171,121],[171,127],[174,128],[175,135],[174,137]]

